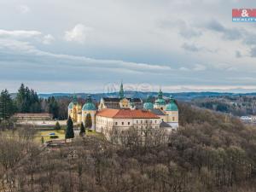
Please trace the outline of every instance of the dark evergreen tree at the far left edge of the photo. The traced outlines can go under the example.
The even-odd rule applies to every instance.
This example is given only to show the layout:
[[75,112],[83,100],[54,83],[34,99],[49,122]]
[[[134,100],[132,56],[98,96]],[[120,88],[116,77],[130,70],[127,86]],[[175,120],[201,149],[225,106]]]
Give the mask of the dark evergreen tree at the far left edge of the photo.
[[2,90],[0,95],[0,120],[9,119],[15,113],[14,102],[8,90]]

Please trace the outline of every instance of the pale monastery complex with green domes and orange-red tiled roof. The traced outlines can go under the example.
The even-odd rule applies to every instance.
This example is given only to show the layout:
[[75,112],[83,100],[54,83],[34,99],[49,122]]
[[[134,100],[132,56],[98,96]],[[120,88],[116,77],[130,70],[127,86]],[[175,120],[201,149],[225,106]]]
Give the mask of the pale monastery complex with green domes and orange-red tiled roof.
[[68,105],[68,116],[74,123],[85,123],[86,116],[90,113],[91,129],[105,135],[113,128],[143,128],[145,124],[153,129],[162,127],[170,131],[178,127],[177,102],[172,96],[164,99],[162,90],[155,99],[148,96],[143,103],[140,98],[126,98],[121,84],[119,97],[103,97],[97,107],[91,96],[87,97],[83,108],[77,97],[73,96],[73,102]]

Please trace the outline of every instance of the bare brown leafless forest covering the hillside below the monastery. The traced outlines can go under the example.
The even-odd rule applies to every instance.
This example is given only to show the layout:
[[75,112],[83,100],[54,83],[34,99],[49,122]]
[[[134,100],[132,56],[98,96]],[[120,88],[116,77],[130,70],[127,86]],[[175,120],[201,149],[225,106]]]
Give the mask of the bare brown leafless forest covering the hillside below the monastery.
[[148,144],[128,132],[131,142],[121,145],[85,135],[46,148],[33,141],[33,129],[2,134],[0,191],[256,191],[255,128],[187,103],[178,107],[177,131]]

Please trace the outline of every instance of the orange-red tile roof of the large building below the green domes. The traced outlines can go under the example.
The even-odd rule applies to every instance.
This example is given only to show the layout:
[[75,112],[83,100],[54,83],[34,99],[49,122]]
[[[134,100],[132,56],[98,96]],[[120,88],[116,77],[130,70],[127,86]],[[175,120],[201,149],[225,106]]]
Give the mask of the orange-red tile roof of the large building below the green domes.
[[141,109],[113,109],[105,108],[96,113],[97,116],[114,119],[160,119],[159,116]]

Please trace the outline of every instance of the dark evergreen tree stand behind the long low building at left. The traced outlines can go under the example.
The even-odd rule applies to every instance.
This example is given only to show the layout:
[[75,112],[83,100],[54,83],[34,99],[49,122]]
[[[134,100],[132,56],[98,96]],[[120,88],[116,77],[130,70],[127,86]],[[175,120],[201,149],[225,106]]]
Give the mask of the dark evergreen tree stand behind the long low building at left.
[[15,96],[11,95],[8,90],[1,91],[0,122],[8,121],[14,113],[51,113],[54,119],[67,119],[69,102],[70,98],[67,97],[40,98],[35,90],[21,84]]

